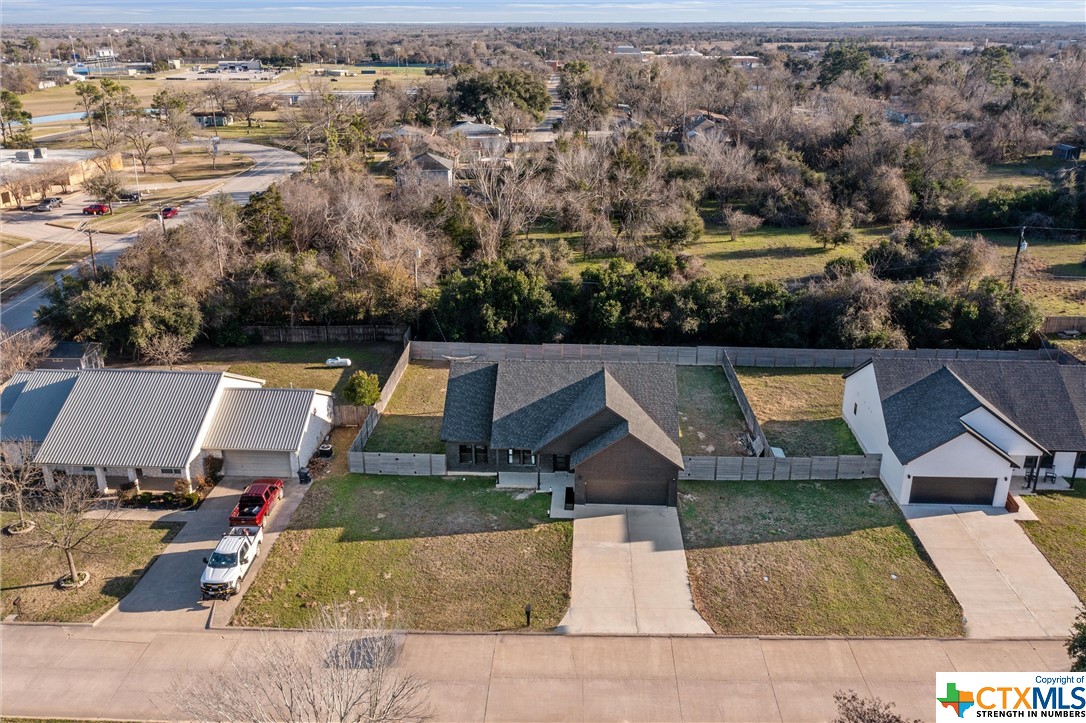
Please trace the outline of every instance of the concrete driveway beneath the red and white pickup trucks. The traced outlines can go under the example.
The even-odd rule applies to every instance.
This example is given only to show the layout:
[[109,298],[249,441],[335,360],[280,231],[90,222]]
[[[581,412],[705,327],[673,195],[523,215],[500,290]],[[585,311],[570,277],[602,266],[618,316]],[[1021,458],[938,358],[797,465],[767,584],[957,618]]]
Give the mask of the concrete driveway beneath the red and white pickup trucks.
[[225,601],[203,601],[200,599],[203,558],[215,549],[226,532],[230,510],[251,481],[228,477],[216,485],[200,508],[190,513],[185,527],[135,589],[121,600],[114,611],[100,620],[98,627],[116,631],[199,631],[207,626],[213,609],[217,622],[228,622],[272,551],[279,532],[290,522],[308,490],[308,485],[299,484],[296,479],[286,481],[286,496],[273,508],[272,517],[265,524],[261,555],[245,576],[241,594]]

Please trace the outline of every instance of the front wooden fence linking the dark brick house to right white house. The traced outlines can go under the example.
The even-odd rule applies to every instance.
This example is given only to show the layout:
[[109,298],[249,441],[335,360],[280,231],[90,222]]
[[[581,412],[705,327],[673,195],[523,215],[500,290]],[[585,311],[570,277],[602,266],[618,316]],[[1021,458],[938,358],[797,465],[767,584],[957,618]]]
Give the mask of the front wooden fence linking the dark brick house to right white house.
[[862,480],[877,478],[882,455],[839,457],[683,457],[680,480]]

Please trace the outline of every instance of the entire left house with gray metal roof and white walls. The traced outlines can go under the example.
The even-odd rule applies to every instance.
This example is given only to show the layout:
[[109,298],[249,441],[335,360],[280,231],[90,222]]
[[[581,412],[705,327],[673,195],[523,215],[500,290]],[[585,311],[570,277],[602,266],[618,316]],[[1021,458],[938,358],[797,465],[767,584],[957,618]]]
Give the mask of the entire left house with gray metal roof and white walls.
[[209,455],[225,474],[290,479],[332,427],[330,393],[222,371],[22,371],[2,402],[0,436],[29,442],[48,482],[83,474],[103,492],[172,489]]

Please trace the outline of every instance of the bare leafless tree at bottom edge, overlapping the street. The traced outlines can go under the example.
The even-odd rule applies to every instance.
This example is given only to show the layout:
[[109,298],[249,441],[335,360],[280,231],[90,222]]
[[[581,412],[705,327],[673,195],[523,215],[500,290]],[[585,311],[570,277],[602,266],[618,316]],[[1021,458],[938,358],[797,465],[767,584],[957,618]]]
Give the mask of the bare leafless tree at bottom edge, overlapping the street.
[[301,633],[263,632],[215,676],[175,685],[175,706],[201,721],[421,722],[427,684],[396,665],[402,637],[383,609],[319,608]]

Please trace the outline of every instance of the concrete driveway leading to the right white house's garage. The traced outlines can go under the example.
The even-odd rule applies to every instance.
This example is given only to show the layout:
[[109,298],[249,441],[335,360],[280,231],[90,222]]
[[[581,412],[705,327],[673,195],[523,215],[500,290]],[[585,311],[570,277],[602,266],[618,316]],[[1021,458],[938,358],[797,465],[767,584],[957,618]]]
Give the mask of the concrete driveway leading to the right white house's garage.
[[901,509],[961,604],[968,637],[1066,637],[1081,604],[1019,527],[1024,509]]

